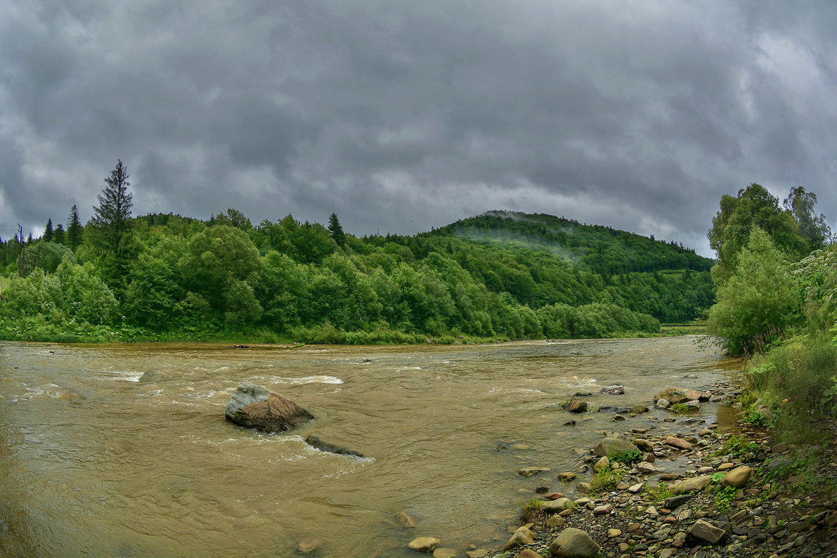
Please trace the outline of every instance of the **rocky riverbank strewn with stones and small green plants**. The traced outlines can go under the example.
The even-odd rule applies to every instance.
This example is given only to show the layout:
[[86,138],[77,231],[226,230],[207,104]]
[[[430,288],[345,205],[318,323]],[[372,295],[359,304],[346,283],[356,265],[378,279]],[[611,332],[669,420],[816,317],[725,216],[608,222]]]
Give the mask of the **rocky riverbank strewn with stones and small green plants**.
[[[712,400],[735,409],[737,395],[723,383]],[[587,550],[598,545],[608,558],[837,555],[837,425],[812,427],[828,428],[830,442],[795,447],[749,422],[722,432],[675,414],[609,433],[634,443],[639,461],[625,463],[622,453],[608,463],[591,451],[583,471],[566,472],[578,475],[571,484],[526,505],[527,523],[508,550],[468,555],[580,558],[587,536]],[[559,536],[569,535],[578,535],[574,548],[583,550],[558,548]]]

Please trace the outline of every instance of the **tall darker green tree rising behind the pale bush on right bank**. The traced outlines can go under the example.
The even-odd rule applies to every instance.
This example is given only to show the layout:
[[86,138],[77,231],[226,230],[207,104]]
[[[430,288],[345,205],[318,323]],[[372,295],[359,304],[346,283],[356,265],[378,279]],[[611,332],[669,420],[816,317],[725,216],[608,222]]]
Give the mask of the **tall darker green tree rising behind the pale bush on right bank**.
[[783,211],[778,198],[763,186],[752,183],[739,190],[737,197],[721,197],[721,211],[712,219],[712,228],[706,235],[718,255],[712,269],[716,284],[723,284],[736,269],[738,253],[749,242],[753,227],[768,233],[773,243],[793,258],[807,253],[808,243],[798,232],[790,212]]

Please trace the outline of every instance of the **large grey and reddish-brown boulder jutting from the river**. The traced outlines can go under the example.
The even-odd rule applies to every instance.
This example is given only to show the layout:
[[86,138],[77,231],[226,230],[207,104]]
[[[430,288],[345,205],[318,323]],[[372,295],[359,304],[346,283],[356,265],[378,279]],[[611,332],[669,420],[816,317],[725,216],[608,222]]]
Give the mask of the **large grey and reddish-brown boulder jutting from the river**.
[[314,415],[266,387],[244,381],[227,405],[227,420],[263,432],[285,432]]

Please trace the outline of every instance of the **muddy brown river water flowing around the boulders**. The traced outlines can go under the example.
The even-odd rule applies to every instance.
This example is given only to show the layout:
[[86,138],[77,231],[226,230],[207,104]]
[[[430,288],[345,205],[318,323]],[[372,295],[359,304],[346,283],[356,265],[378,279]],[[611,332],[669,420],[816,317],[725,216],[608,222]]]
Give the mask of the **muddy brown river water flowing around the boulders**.
[[[648,404],[662,387],[709,386],[737,370],[695,341],[3,343],[0,555],[286,556],[309,536],[334,557],[412,555],[417,535],[493,549],[537,484],[561,488],[555,474],[579,467],[573,448],[596,431],[673,427],[654,411],[619,423],[587,413],[566,427],[554,404],[579,391],[599,405]],[[243,380],[316,421],[285,434],[226,422]],[[626,393],[599,393],[613,383]],[[307,434],[370,457],[321,453]],[[523,479],[526,466],[552,471]],[[398,524],[402,510],[417,528]]]

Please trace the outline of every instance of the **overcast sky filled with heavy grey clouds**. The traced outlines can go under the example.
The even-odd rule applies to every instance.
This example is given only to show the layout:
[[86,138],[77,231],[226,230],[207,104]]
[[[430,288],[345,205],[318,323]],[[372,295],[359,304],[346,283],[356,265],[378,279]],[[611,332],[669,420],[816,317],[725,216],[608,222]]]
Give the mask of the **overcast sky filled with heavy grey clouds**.
[[712,256],[723,194],[837,218],[837,3],[0,0],[0,237],[234,207],[413,234],[507,209]]

